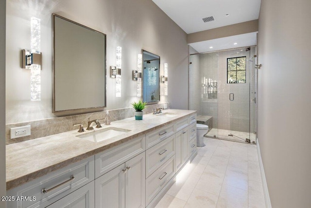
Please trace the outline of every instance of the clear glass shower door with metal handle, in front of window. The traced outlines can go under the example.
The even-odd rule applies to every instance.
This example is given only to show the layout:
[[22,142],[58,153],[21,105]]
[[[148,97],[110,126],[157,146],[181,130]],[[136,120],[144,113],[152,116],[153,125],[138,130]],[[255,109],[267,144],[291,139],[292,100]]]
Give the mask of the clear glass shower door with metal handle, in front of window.
[[226,101],[219,106],[219,111],[223,113],[223,120],[219,125],[221,125],[220,129],[228,131],[224,131],[223,135],[219,131],[219,137],[248,143],[256,141],[254,132],[257,128],[255,116],[257,76],[254,54],[255,47],[225,53],[225,94],[227,97],[223,97]]

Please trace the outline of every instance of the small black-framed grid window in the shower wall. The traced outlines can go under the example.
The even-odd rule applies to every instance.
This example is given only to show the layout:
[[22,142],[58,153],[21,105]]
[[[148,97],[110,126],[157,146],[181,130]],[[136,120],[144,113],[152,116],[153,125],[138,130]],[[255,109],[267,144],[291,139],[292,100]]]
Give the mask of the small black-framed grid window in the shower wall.
[[227,83],[246,83],[246,57],[227,58]]

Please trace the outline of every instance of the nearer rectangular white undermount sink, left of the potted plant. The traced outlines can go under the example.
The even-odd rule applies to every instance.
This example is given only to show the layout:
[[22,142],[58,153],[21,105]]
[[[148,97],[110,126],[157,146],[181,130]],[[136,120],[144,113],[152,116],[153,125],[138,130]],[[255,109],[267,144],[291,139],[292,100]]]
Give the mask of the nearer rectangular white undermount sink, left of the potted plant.
[[109,127],[103,130],[92,131],[92,132],[89,132],[83,135],[78,135],[77,137],[86,139],[92,142],[100,142],[100,141],[104,141],[106,139],[110,139],[114,136],[118,136],[123,133],[130,132],[130,131],[131,130]]

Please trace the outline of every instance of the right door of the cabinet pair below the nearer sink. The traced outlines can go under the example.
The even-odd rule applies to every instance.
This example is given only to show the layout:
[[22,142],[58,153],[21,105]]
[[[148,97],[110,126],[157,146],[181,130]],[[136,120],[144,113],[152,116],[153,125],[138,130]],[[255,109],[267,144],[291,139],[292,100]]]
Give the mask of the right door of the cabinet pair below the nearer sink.
[[145,207],[145,152],[125,162],[125,208]]

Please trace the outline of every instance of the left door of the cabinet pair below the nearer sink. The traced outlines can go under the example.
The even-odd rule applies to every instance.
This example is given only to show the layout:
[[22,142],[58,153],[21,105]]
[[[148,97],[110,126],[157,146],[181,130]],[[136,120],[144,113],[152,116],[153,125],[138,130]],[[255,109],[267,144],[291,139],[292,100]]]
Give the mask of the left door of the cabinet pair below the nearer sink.
[[124,163],[95,179],[95,208],[125,207]]

